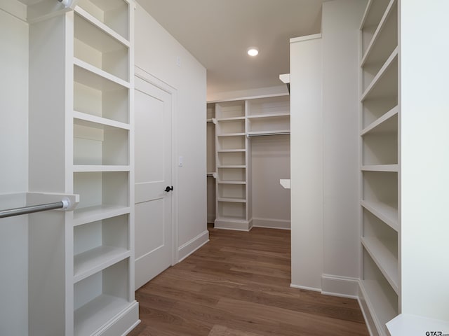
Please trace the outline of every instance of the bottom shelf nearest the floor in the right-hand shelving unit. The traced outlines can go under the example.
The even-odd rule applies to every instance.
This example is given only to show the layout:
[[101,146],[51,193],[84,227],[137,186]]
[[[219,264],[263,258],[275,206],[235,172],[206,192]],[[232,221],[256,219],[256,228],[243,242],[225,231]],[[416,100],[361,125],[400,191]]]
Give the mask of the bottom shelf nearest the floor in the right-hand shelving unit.
[[385,323],[398,314],[396,308],[391,305],[390,297],[375,280],[361,280],[360,288],[363,297],[369,299],[369,301],[367,300],[368,308],[375,320],[377,330],[384,330],[385,333]]

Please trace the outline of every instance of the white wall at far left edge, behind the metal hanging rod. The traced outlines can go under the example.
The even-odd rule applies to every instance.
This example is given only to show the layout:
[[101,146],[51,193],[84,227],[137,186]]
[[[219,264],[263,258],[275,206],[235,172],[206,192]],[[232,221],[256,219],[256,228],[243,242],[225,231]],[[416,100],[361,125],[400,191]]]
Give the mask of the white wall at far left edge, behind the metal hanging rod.
[[[28,25],[0,9],[0,41],[0,209],[8,209],[25,205],[28,188]],[[28,335],[27,245],[27,216],[0,219],[0,335]]]

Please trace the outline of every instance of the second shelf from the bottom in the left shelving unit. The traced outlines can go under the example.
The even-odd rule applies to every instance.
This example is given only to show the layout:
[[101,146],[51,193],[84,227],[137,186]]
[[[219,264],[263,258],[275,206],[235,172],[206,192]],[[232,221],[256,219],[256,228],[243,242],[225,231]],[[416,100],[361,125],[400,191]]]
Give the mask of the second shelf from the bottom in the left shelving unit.
[[128,249],[114,246],[99,246],[74,255],[74,283],[129,257]]

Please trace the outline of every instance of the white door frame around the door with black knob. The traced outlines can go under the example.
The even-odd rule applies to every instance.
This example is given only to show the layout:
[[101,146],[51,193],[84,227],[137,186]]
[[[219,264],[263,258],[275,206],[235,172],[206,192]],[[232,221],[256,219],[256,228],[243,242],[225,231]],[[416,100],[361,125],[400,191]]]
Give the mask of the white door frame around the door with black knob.
[[[172,163],[171,163],[171,181],[174,186],[174,190],[171,193],[172,195],[172,202],[171,202],[171,232],[172,232],[172,251],[171,251],[171,265],[177,264],[179,260],[178,256],[178,246],[177,246],[177,132],[175,130],[177,129],[176,125],[176,118],[175,114],[177,111],[177,88],[173,87],[172,85],[164,82],[163,80],[160,80],[159,78],[156,78],[151,73],[148,73],[144,69],[140,68],[139,66],[134,66],[134,76],[138,77],[142,80],[145,80],[145,82],[154,85],[158,87],[160,90],[163,90],[170,94],[171,97],[171,153],[172,153]],[[134,207],[134,204],[133,204]],[[135,233],[134,233],[135,234]]]

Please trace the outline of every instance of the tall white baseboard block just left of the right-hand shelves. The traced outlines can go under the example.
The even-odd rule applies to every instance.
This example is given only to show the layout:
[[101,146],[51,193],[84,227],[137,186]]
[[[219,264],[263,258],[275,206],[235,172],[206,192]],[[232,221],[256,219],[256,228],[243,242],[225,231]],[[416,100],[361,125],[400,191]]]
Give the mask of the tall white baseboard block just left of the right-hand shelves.
[[358,279],[349,276],[322,274],[321,293],[356,299],[358,297]]

